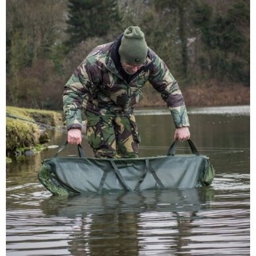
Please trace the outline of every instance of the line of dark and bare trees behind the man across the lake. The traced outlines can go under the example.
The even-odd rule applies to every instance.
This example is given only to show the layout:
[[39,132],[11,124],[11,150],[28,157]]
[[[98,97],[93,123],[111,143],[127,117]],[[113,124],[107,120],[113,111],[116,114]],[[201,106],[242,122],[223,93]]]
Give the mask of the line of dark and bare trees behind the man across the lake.
[[92,48],[140,26],[183,87],[249,86],[249,0],[8,0],[7,105],[60,110]]

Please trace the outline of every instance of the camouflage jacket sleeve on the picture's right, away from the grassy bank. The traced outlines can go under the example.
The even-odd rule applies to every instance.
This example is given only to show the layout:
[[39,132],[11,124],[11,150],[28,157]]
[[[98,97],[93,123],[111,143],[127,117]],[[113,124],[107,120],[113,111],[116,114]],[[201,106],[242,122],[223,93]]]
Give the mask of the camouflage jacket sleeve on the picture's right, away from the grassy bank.
[[176,128],[189,127],[187,109],[177,81],[170,73],[164,61],[158,55],[155,56],[148,81],[160,92],[163,100],[166,102],[172,113]]

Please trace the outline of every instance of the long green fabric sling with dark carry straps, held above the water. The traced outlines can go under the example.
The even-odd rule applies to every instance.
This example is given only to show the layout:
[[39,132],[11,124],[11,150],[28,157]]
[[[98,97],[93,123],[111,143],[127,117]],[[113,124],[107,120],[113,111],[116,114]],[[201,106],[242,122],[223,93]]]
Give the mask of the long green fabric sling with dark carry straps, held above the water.
[[177,141],[167,156],[148,158],[86,158],[79,145],[79,157],[59,157],[42,162],[38,179],[53,195],[74,195],[101,191],[145,189],[187,189],[210,185],[215,171],[192,141],[192,154],[175,154]]

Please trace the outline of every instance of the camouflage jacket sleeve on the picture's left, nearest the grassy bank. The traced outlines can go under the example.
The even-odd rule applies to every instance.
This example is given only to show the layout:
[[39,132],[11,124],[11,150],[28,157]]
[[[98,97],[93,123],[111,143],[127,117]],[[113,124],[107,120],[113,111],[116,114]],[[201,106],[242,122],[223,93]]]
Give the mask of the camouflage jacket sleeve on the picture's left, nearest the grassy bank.
[[86,63],[83,61],[64,86],[63,110],[67,130],[82,128],[81,110],[86,107],[90,94],[90,84],[92,82],[89,79],[88,71],[86,71]]

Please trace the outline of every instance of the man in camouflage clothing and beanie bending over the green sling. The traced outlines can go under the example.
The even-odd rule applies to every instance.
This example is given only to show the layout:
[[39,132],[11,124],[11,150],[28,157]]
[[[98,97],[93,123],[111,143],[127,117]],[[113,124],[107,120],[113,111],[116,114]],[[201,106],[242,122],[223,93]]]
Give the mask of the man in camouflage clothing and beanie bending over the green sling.
[[174,139],[189,139],[189,119],[176,80],[147,47],[141,28],[129,26],[115,42],[94,48],[65,84],[68,143],[82,141],[84,109],[88,143],[96,158],[137,158],[140,137],[133,107],[142,99],[146,81],[160,92],[172,113]]

